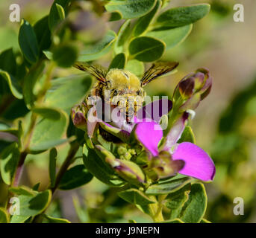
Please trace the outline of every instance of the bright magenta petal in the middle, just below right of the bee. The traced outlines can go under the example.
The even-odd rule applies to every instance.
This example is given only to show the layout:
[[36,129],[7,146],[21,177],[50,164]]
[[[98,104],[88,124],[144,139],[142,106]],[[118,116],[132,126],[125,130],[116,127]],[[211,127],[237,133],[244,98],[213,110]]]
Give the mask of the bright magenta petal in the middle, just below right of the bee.
[[152,122],[138,123],[135,128],[137,139],[153,156],[158,155],[158,143],[163,137],[163,130],[159,124]]

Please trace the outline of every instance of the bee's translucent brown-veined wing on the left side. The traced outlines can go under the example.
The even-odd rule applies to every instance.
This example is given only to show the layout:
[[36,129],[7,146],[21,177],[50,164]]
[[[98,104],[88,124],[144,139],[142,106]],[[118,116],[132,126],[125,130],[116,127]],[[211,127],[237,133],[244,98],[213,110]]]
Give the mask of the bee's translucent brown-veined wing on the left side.
[[73,66],[81,71],[87,71],[102,83],[106,82],[107,71],[101,65],[89,65],[86,62],[75,62]]

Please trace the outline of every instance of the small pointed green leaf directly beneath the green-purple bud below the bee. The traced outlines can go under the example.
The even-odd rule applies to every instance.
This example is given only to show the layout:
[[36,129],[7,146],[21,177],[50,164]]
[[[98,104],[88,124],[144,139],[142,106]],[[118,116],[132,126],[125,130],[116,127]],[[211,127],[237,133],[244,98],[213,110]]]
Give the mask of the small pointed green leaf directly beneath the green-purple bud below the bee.
[[126,202],[130,202],[135,205],[149,205],[154,203],[154,201],[149,199],[143,192],[135,188],[130,188],[117,194]]

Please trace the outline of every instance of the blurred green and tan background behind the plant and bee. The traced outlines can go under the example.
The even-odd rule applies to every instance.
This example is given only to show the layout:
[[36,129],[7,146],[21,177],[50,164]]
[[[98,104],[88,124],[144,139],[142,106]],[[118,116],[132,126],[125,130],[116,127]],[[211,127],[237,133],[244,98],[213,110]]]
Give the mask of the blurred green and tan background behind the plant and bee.
[[[49,13],[52,0],[16,0],[21,18],[31,25]],[[122,21],[107,22],[109,15],[93,8],[94,1],[81,1],[82,11],[71,13],[71,31],[78,44],[96,42],[107,29],[117,31]],[[216,177],[206,184],[208,208],[206,218],[211,222],[256,222],[256,1],[255,0],[172,0],[169,7],[207,2],[210,13],[193,25],[190,36],[175,48],[169,49],[163,60],[180,62],[178,72],[147,86],[149,95],[169,95],[175,85],[191,71],[206,67],[213,76],[210,95],[196,109],[191,122],[196,142],[204,148],[216,164]],[[12,0],[0,2],[0,52],[19,49],[19,22],[10,22]],[[245,22],[234,22],[234,4],[243,4]],[[94,9],[94,10],[93,10]],[[74,34],[74,35],[73,35]],[[107,66],[111,54],[98,62]],[[146,65],[147,67],[149,65]],[[55,77],[78,74],[72,68],[57,69]],[[13,109],[14,108],[14,109]],[[4,112],[10,120],[19,118],[15,106]],[[4,147],[0,141],[0,150]],[[69,148],[60,146],[57,163],[61,164]],[[79,156],[78,156],[79,157]],[[49,155],[29,155],[23,184],[40,183],[40,190],[48,184]],[[0,205],[6,196],[0,181]],[[243,216],[233,213],[234,198],[244,200]],[[151,222],[132,205],[116,196],[115,189],[93,179],[79,189],[59,191],[49,208],[53,216],[71,222]]]

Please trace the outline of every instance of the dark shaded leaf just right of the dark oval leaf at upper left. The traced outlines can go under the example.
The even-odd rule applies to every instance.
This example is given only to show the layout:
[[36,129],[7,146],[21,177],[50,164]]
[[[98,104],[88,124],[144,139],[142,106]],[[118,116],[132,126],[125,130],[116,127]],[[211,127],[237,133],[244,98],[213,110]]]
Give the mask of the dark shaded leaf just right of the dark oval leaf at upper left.
[[40,51],[45,51],[51,46],[51,31],[48,25],[49,16],[45,16],[34,25],[34,33],[37,36],[37,42]]

